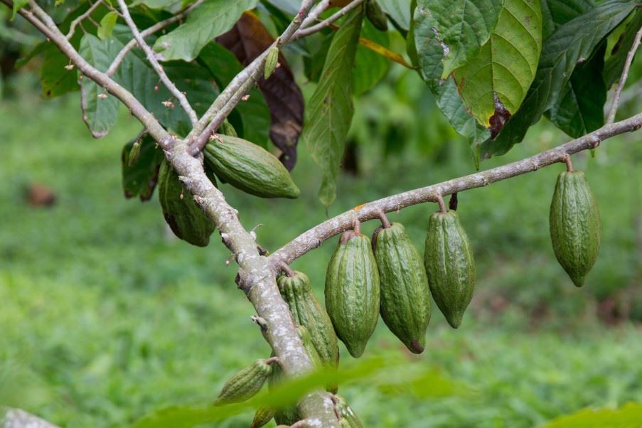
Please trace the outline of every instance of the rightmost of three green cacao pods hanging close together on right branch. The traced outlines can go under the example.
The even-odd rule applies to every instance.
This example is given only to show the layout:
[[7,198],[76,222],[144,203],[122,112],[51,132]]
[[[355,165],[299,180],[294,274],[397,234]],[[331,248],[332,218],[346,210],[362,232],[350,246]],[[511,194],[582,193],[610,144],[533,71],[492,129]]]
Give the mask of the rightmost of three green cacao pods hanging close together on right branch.
[[424,263],[435,303],[446,321],[459,327],[473,298],[476,268],[471,243],[456,211],[430,216]]

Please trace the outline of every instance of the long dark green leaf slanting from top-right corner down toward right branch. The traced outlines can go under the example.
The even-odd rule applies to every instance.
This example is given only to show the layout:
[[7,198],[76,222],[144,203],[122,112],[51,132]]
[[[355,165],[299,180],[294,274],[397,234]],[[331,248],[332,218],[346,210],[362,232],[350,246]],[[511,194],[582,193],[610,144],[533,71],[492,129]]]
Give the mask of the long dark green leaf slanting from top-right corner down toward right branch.
[[483,157],[505,154],[522,141],[528,128],[555,105],[578,61],[590,58],[602,39],[635,7],[636,1],[604,1],[587,14],[560,26],[544,43],[537,75],[522,107],[506,122],[496,139],[484,141]]

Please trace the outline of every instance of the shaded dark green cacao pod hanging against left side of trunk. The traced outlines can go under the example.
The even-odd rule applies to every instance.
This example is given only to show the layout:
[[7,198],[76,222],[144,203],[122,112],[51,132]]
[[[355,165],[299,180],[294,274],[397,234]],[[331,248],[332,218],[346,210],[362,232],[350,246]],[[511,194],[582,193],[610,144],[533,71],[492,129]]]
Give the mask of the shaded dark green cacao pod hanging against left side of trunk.
[[159,171],[159,200],[165,221],[174,235],[198,247],[208,245],[214,223],[194,203],[191,194],[183,191],[178,174],[166,159]]

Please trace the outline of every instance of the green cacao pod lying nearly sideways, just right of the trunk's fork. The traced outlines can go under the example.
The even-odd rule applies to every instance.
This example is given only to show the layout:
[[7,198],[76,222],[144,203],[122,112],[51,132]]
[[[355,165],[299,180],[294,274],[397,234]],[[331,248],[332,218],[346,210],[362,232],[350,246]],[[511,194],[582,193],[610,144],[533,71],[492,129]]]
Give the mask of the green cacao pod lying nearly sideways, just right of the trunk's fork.
[[250,141],[217,134],[203,154],[216,176],[245,193],[261,198],[297,198],[301,193],[279,159]]

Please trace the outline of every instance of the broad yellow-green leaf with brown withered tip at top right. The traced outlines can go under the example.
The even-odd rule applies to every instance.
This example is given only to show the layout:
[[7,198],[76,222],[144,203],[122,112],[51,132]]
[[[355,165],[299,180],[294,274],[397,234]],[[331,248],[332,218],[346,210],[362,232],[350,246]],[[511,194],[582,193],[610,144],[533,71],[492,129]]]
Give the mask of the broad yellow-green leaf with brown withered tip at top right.
[[506,0],[488,42],[453,77],[466,108],[491,134],[518,110],[542,50],[539,0]]

